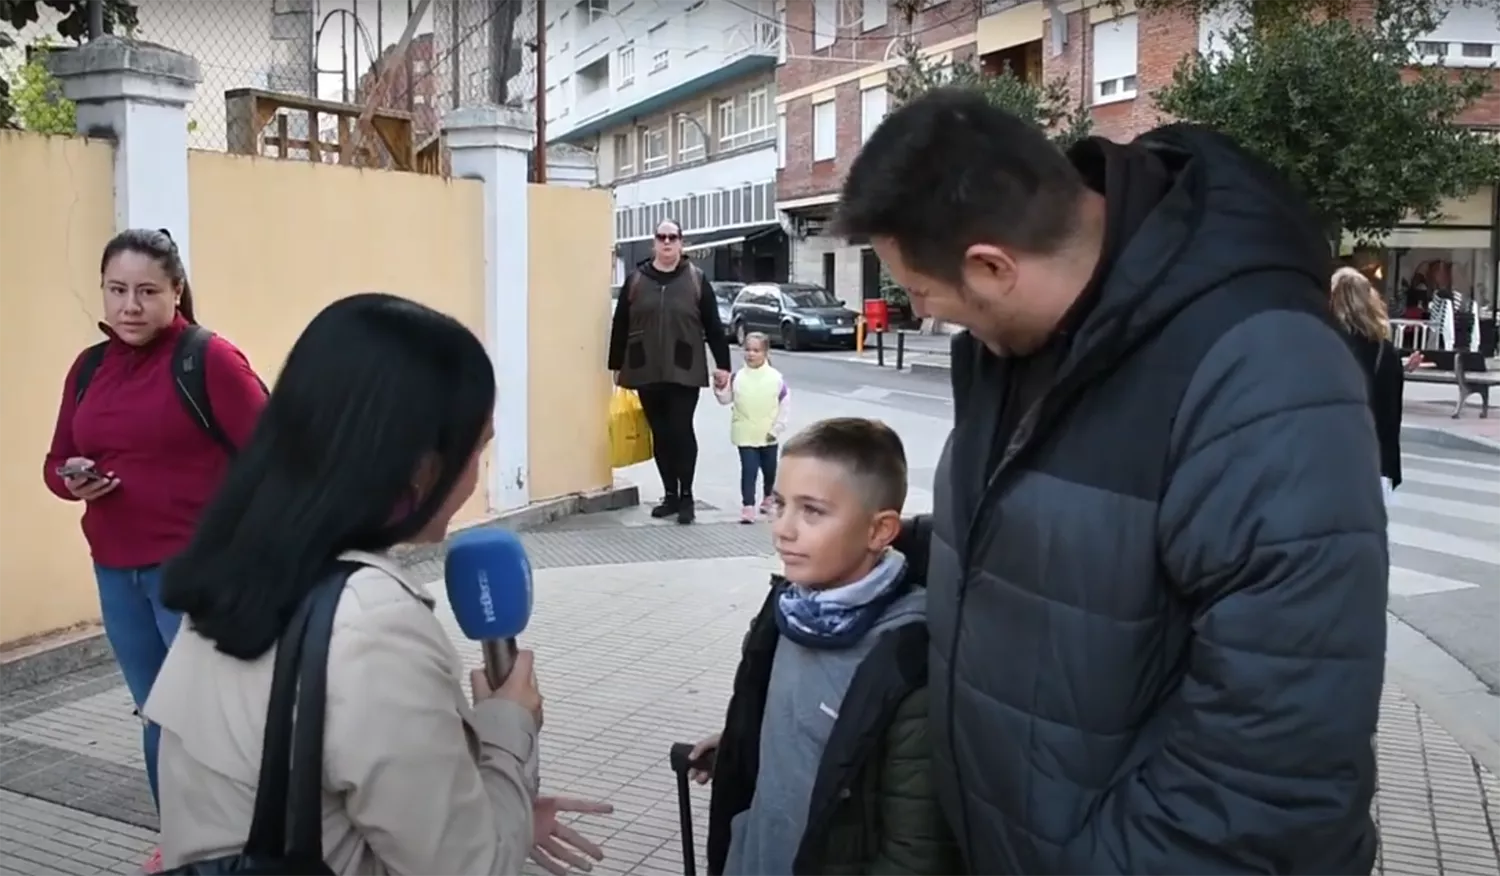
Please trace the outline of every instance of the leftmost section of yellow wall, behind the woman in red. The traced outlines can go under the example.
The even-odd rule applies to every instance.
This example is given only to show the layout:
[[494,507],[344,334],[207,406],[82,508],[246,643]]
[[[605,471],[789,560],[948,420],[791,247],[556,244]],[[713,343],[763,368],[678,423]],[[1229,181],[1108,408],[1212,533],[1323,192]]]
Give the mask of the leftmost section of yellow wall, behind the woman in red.
[[99,618],[82,506],[42,486],[63,375],[100,339],[99,250],[114,232],[114,148],[0,130],[0,644]]

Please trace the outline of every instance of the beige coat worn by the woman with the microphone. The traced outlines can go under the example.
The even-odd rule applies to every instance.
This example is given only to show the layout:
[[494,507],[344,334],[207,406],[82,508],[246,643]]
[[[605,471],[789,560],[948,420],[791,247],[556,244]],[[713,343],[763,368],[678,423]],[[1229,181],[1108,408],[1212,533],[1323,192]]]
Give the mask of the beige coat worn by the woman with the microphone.
[[[339,876],[519,876],[531,852],[537,724],[470,705],[428,592],[388,558],[339,600],[328,650],[322,854]],[[273,654],[246,663],[184,622],[146,714],[162,728],[162,862],[232,855],[255,804]]]

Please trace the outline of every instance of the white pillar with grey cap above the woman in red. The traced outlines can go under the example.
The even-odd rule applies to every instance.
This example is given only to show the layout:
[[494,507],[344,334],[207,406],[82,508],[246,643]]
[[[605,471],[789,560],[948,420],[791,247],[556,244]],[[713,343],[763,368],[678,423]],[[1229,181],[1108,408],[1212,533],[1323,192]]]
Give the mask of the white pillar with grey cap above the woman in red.
[[202,80],[196,58],[105,36],[48,52],[46,63],[78,105],[78,134],[114,141],[116,230],[168,230],[190,270],[188,104]]

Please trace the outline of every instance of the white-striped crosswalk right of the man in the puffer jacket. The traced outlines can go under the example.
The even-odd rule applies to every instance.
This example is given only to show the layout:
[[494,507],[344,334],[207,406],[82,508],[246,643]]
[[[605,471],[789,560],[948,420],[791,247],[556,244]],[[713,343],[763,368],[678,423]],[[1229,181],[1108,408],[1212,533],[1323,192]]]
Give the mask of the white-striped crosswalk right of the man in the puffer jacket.
[[[1404,555],[1407,564],[1422,562],[1426,568],[1394,564],[1390,596],[1420,597],[1476,590],[1482,585],[1474,580],[1484,578],[1473,573],[1476,564],[1482,564],[1478,568],[1492,567],[1494,586],[1500,586],[1500,458],[1490,464],[1431,453],[1404,453],[1402,462],[1404,482],[1390,502],[1388,534],[1392,554],[1400,554],[1396,548],[1426,552]],[[1462,501],[1416,492],[1424,486],[1456,488],[1479,495],[1478,501]],[[1455,532],[1452,520],[1466,520],[1462,532],[1467,534]],[[1474,537],[1476,532],[1484,536],[1488,526],[1494,526],[1494,538]],[[1432,554],[1450,558],[1454,566],[1466,572],[1455,573],[1452,568],[1444,568],[1442,561],[1437,561],[1436,567],[1431,566]]]

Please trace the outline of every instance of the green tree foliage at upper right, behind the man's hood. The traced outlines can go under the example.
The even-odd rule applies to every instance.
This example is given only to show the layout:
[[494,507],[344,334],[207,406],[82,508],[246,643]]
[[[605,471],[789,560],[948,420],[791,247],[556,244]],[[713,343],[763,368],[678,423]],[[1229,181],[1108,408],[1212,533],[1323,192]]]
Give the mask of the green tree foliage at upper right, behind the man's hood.
[[1412,69],[1414,39],[1432,27],[1422,2],[1383,8],[1365,24],[1288,18],[1268,32],[1246,21],[1220,51],[1184,58],[1156,105],[1278,166],[1330,238],[1346,230],[1378,240],[1500,177],[1500,144],[1460,123],[1490,90],[1488,70]]

